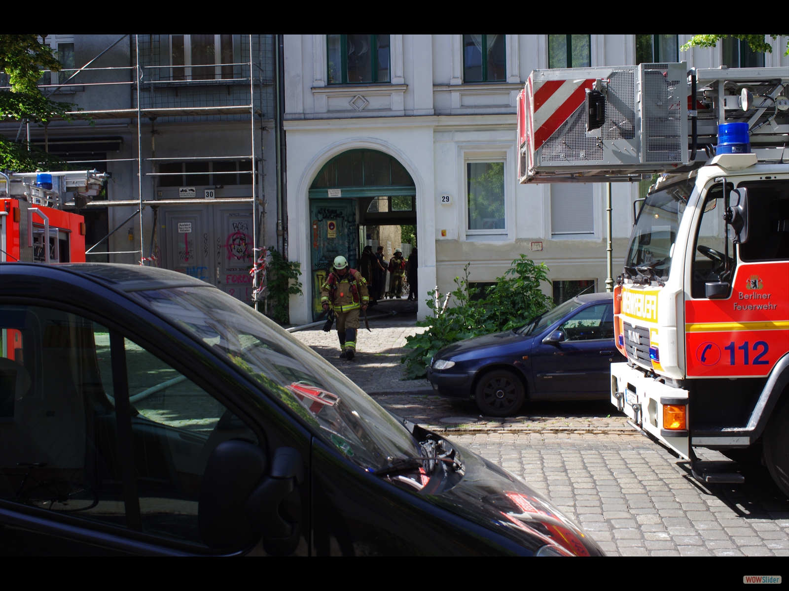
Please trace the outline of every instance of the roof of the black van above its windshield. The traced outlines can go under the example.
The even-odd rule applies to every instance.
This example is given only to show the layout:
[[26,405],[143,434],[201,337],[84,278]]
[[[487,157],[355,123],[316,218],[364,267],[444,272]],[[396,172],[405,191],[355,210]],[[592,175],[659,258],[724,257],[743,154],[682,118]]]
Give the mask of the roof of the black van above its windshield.
[[185,273],[141,265],[123,265],[117,262],[67,262],[53,265],[67,269],[94,281],[110,285],[122,292],[140,292],[148,289],[215,287]]

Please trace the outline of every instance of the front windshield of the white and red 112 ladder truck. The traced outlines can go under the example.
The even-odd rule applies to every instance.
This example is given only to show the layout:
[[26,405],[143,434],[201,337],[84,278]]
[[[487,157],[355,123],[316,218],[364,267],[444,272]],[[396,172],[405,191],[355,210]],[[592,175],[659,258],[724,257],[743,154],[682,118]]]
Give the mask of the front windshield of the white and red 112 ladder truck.
[[647,195],[630,234],[625,266],[646,277],[667,279],[679,222],[694,190],[694,179],[669,184]]

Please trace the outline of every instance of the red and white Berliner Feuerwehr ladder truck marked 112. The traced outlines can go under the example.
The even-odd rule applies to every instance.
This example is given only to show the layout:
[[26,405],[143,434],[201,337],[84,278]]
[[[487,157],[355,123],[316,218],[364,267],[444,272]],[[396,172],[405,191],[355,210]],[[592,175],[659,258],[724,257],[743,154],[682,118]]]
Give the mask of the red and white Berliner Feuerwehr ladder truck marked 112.
[[611,403],[698,480],[743,480],[709,448],[789,495],[789,68],[536,70],[518,138],[522,183],[656,179],[613,287]]

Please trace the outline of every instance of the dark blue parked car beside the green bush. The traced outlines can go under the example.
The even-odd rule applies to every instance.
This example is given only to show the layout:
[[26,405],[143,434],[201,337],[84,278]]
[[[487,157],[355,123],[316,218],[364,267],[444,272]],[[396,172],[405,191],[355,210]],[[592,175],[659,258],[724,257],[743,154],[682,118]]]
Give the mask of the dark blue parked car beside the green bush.
[[428,380],[441,396],[473,398],[494,417],[525,400],[608,400],[614,344],[613,294],[576,296],[520,329],[462,340],[436,352]]

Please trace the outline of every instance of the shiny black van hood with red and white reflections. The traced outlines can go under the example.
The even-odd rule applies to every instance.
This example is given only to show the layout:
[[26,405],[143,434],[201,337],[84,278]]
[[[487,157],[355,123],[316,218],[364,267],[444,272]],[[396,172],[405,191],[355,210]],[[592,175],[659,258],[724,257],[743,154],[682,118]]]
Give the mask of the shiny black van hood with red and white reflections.
[[450,489],[425,495],[430,502],[533,552],[551,545],[559,555],[604,556],[589,534],[520,478],[454,442],[451,446],[464,474]]

